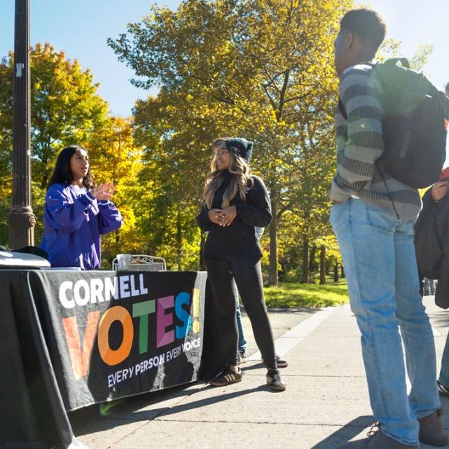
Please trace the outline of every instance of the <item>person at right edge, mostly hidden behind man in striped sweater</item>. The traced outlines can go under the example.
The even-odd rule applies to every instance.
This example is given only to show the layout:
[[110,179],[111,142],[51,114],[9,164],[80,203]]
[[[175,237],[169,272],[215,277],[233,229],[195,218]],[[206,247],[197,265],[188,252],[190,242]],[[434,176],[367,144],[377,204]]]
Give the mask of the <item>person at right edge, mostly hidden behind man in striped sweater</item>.
[[[445,87],[449,98],[449,83]],[[449,116],[448,116],[449,119]],[[422,277],[438,279],[435,303],[449,308],[449,167],[422,198],[422,210],[415,225],[415,249],[420,282]],[[438,392],[449,396],[449,336],[441,358]]]

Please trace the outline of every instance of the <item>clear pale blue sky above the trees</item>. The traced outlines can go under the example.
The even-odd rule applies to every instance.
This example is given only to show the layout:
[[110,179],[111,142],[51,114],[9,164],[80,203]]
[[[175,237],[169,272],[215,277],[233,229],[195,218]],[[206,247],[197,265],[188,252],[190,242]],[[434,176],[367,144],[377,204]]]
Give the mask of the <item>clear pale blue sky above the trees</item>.
[[[0,57],[13,49],[14,0],[0,0]],[[30,0],[31,43],[50,42],[67,57],[90,68],[99,94],[112,113],[129,116],[135,100],[148,92],[134,88],[133,74],[117,61],[108,37],[125,31],[127,22],[137,22],[149,11],[148,0]],[[177,8],[178,0],[158,1]],[[449,81],[449,0],[367,0],[384,17],[387,37],[403,43],[402,55],[412,56],[417,46],[431,43],[434,53],[425,71],[439,87]]]

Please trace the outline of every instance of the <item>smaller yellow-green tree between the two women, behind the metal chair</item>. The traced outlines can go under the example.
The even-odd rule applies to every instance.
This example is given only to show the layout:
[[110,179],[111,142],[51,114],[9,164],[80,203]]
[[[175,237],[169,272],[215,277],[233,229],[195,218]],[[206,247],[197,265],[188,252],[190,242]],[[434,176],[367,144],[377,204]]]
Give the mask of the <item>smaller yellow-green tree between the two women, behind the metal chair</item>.
[[[140,181],[148,189],[141,197],[140,208],[146,211],[141,230],[151,254],[165,257],[178,270],[191,270],[198,268],[200,235],[194,217],[210,153],[204,143],[191,139],[194,112],[182,113],[183,108],[173,109],[163,100],[148,98],[134,110],[134,136],[146,148]],[[179,102],[185,102],[182,95]]]

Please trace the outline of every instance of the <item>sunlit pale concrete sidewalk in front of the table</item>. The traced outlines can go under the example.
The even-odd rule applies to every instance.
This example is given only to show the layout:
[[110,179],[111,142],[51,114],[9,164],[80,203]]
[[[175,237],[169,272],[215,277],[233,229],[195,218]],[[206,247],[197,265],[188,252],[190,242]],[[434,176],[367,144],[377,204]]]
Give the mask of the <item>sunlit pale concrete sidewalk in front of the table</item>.
[[[425,303],[439,364],[449,313],[433,297]],[[263,366],[249,361],[242,382],[228,387],[196,384],[106,403],[102,413],[98,406],[77,410],[70,414],[76,436],[91,449],[333,449],[364,436],[373,417],[349,306],[271,315],[277,352],[289,361],[286,392],[271,392]],[[449,400],[442,403],[449,430]]]

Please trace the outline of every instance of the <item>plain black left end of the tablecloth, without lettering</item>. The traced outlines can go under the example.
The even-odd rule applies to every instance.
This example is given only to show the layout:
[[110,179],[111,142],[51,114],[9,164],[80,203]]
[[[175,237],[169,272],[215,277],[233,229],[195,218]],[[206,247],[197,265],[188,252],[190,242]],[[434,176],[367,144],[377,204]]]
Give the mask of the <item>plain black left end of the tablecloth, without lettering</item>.
[[29,272],[2,270],[0,291],[0,448],[75,448]]

